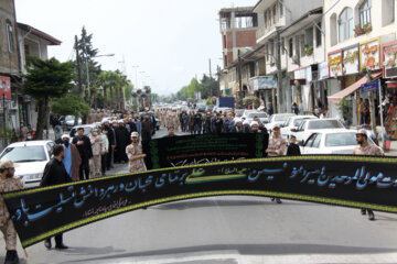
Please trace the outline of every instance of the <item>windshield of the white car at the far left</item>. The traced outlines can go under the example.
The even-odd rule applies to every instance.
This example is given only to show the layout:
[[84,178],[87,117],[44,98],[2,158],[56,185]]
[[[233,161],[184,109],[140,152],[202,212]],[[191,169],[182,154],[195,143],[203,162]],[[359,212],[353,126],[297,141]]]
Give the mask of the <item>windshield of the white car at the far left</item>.
[[0,161],[10,160],[14,163],[44,162],[46,161],[44,146],[7,147]]

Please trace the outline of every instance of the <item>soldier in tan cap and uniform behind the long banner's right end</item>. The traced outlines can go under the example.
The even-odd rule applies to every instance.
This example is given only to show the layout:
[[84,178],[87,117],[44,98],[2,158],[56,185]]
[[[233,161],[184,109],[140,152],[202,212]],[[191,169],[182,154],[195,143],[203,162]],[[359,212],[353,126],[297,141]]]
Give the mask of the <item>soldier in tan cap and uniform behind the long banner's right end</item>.
[[[372,145],[368,143],[368,135],[365,129],[361,129],[357,131],[356,141],[358,143],[358,146],[354,147],[353,155],[384,156],[377,145]],[[372,209],[363,208],[361,209],[361,212],[363,216],[368,212],[368,219],[371,221],[375,220],[375,213]]]

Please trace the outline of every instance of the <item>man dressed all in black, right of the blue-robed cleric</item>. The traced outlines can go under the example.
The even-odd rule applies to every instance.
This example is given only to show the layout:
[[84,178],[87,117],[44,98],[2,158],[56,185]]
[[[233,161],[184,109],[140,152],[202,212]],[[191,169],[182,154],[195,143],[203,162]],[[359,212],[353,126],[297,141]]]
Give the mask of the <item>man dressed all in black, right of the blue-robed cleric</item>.
[[84,180],[84,175],[85,179],[89,179],[89,158],[93,157],[93,150],[88,136],[84,134],[84,128],[77,129],[77,135],[73,139],[72,143],[77,147],[82,158],[78,170],[79,179]]

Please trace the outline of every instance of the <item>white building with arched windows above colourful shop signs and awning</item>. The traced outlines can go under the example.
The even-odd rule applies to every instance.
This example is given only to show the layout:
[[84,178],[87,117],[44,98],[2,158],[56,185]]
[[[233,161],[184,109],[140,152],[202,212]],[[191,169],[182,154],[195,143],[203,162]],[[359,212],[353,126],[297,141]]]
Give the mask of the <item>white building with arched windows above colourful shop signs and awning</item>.
[[[328,100],[330,108],[335,109],[345,99],[352,113],[348,123],[355,125],[361,121],[360,98],[371,99],[372,95],[360,89],[368,81],[366,73],[375,79],[382,77],[385,55],[382,47],[396,40],[396,0],[341,0],[337,3],[324,0],[324,10],[328,10],[324,23],[330,78],[339,84]],[[384,94],[386,89],[383,88]],[[375,101],[383,99],[378,92],[373,96]]]

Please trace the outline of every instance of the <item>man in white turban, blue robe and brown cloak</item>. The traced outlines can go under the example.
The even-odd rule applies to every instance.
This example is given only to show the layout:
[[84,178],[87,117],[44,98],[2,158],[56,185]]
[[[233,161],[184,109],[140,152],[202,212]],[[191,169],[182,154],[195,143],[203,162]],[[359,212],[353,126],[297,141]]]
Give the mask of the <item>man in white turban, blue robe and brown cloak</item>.
[[79,179],[79,166],[82,164],[78,150],[74,144],[71,144],[71,136],[68,134],[62,135],[62,143],[65,148],[62,162],[72,182],[77,182]]

